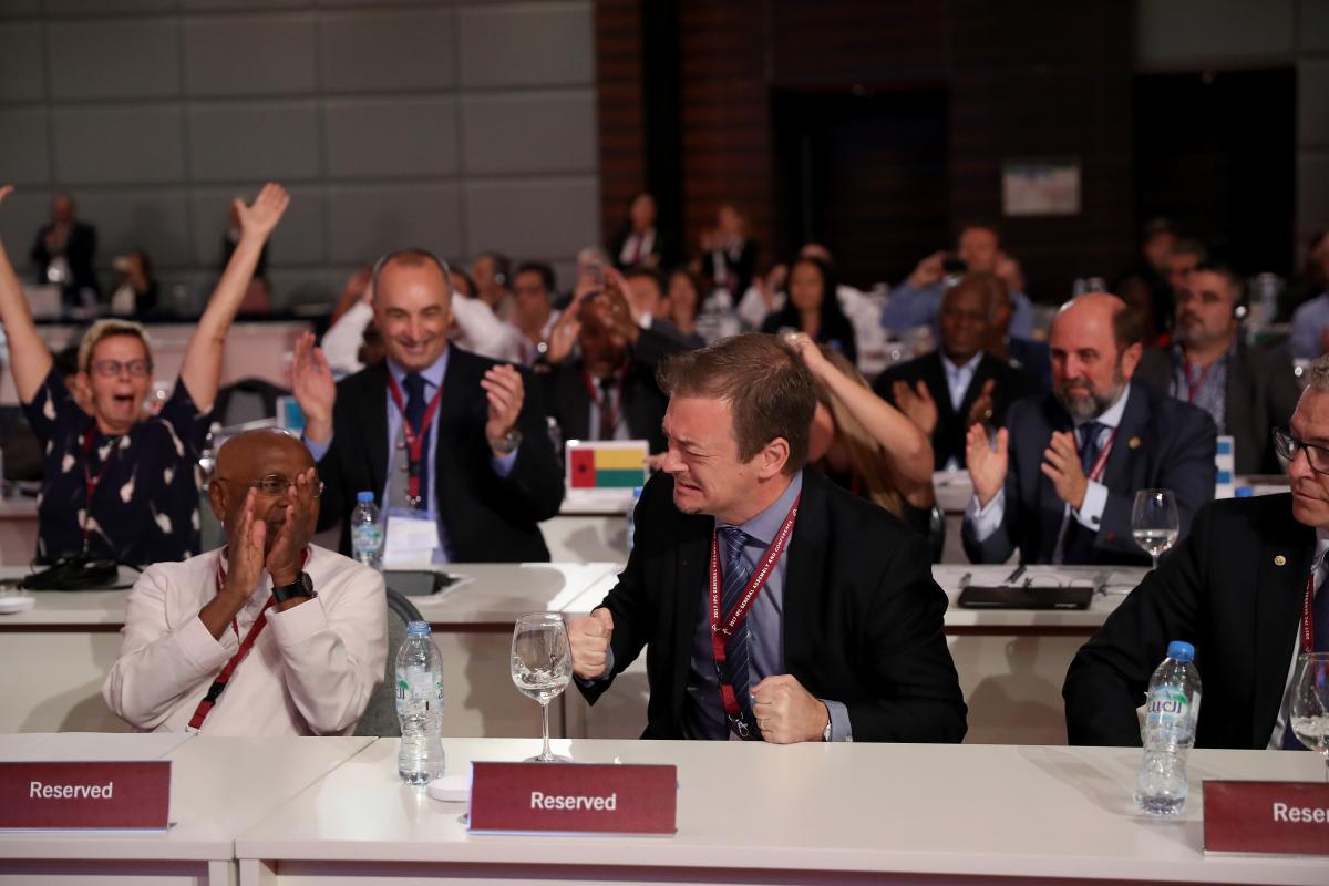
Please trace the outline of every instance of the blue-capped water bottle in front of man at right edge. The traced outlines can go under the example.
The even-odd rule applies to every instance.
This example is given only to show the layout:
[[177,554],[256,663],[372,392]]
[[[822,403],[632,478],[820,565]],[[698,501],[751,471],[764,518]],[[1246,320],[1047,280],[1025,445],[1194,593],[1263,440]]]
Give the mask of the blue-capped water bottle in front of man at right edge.
[[1185,806],[1185,754],[1195,744],[1200,719],[1200,672],[1193,659],[1193,646],[1174,640],[1150,680],[1135,805],[1154,816],[1175,816]]

